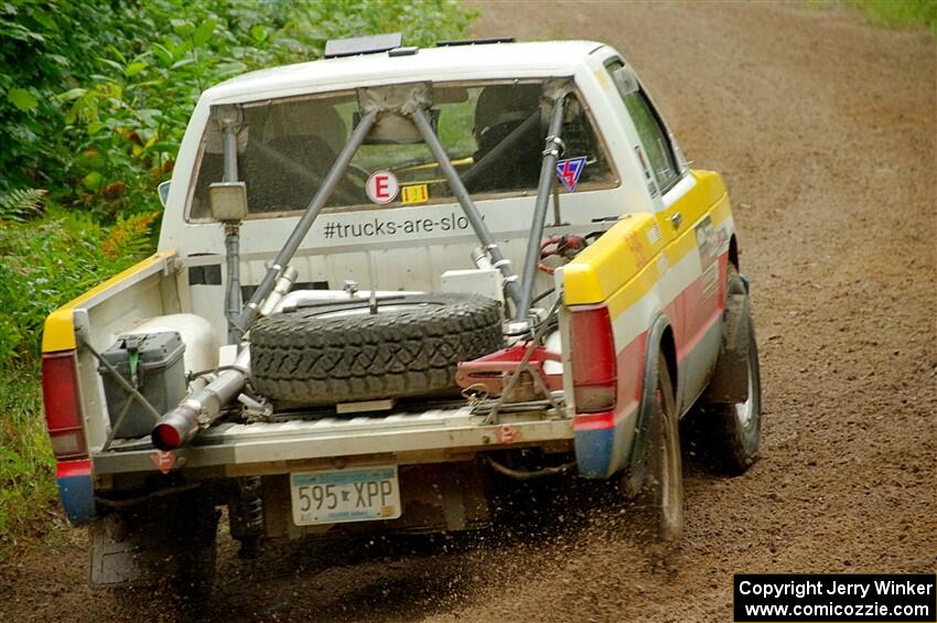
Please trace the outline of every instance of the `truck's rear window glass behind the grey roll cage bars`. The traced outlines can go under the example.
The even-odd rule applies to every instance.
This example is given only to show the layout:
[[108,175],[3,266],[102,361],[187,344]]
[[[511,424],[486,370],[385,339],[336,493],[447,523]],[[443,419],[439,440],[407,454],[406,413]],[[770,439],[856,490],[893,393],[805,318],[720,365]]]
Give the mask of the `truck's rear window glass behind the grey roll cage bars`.
[[[474,196],[536,194],[548,123],[541,93],[542,80],[433,85],[431,116],[438,135]],[[614,187],[617,178],[581,98],[571,94],[566,108],[562,158],[585,158],[575,191]],[[359,117],[354,92],[246,104],[243,110],[238,179],[247,184],[248,213],[255,218],[305,208]],[[326,204],[326,213],[454,201],[429,148],[409,126],[402,118],[381,117]],[[519,126],[524,131],[510,139],[503,155],[484,171],[472,171]],[[208,186],[222,181],[222,151],[219,130],[209,121],[200,148],[190,219],[211,218]],[[391,172],[400,191],[378,205],[366,184],[379,171]],[[558,192],[567,192],[558,186]]]

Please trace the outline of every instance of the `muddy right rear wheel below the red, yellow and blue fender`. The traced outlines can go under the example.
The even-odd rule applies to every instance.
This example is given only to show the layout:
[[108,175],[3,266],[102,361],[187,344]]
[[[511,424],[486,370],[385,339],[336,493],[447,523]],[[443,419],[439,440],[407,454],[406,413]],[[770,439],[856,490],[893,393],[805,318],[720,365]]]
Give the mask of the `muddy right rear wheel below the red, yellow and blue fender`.
[[677,540],[683,533],[683,473],[674,384],[664,354],[657,356],[645,449],[646,482],[637,496],[636,524],[648,540]]

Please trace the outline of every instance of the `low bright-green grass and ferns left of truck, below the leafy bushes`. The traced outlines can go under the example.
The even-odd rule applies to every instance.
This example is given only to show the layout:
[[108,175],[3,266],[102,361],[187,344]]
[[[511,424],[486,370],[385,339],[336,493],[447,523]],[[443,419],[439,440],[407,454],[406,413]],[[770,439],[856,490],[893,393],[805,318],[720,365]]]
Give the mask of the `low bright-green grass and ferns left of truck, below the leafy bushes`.
[[86,212],[39,198],[0,194],[0,560],[63,520],[42,409],[43,320],[149,255],[157,216],[101,225]]

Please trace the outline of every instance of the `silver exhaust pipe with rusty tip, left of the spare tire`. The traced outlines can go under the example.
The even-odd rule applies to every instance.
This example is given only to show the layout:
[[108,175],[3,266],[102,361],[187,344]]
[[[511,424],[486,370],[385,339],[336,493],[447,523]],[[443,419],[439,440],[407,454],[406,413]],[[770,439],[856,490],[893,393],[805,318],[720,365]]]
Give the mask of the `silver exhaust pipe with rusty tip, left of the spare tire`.
[[150,434],[153,445],[169,451],[192,441],[220,417],[222,408],[240,394],[249,375],[250,348],[245,346],[230,368],[160,418]]

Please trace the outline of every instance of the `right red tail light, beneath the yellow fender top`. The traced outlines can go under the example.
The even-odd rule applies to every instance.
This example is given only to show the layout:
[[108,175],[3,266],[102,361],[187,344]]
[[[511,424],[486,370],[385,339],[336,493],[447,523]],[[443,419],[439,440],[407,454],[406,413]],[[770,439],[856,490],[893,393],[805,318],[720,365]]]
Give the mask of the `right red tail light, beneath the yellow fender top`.
[[608,308],[573,308],[570,333],[577,412],[612,409],[617,399],[618,366]]

